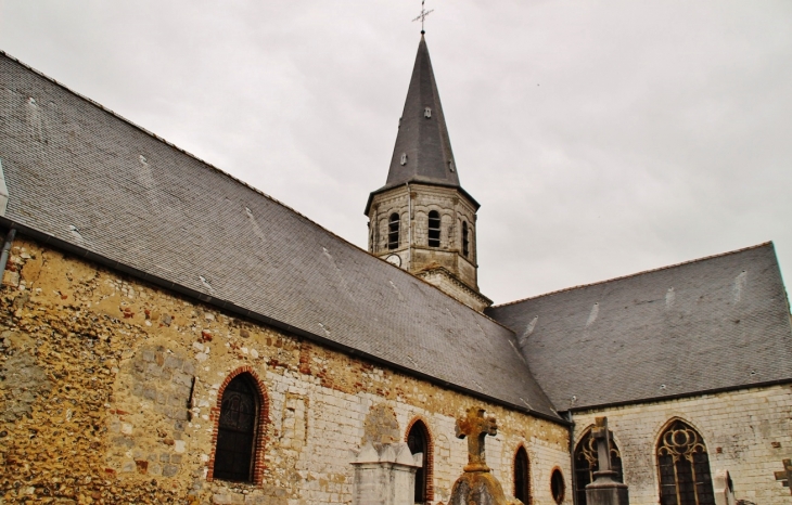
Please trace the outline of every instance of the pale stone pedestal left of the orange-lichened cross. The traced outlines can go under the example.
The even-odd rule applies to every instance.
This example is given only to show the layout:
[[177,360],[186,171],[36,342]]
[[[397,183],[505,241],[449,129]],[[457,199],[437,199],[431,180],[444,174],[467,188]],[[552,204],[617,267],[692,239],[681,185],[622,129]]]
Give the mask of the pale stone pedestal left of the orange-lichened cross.
[[352,462],[353,505],[413,505],[416,470],[422,463],[423,454],[411,454],[406,443],[379,449],[367,443]]

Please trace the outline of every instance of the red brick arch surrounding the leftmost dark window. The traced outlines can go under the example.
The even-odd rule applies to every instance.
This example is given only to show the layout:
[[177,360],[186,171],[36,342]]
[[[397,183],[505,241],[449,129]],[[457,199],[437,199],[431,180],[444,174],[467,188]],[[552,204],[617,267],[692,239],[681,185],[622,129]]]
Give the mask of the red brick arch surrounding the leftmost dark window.
[[209,413],[209,420],[213,425],[212,455],[208,462],[206,480],[212,481],[220,479],[219,476],[215,476],[215,462],[217,456],[217,440],[220,432],[222,399],[228,386],[237,378],[244,379],[244,381],[250,386],[256,406],[252,433],[253,440],[251,442],[252,454],[250,477],[241,480],[260,485],[265,469],[264,448],[267,441],[267,426],[269,424],[269,397],[267,396],[267,389],[264,386],[264,381],[261,381],[258,374],[256,374],[256,372],[250,366],[241,366],[231,372],[220,385],[220,389],[217,391],[217,404],[212,407]]

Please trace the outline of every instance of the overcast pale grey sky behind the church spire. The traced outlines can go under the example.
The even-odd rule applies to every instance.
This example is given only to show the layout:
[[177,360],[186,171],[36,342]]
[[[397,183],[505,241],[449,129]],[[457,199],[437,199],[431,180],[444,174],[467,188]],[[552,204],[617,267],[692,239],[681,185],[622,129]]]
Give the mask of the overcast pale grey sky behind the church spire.
[[[792,2],[426,9],[460,179],[482,204],[485,295],[502,303],[766,241],[792,282]],[[420,10],[0,0],[0,49],[366,248]]]

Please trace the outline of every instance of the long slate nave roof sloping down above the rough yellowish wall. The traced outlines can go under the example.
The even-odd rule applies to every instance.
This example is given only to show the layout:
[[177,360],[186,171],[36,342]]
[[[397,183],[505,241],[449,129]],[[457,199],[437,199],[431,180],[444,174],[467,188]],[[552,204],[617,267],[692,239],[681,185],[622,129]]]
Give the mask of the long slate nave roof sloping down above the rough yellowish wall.
[[559,419],[508,328],[4,53],[0,161],[23,233]]

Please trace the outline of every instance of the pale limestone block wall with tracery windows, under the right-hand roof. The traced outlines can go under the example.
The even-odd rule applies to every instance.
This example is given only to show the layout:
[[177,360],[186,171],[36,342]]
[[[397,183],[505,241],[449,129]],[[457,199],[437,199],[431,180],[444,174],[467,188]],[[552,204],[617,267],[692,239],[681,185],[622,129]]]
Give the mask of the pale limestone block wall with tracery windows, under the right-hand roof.
[[597,416],[608,416],[609,428],[622,452],[630,504],[659,500],[656,446],[672,419],[682,419],[702,436],[714,475],[727,469],[737,500],[756,504],[787,504],[789,489],[775,480],[781,459],[792,457],[792,386],[780,385],[698,398],[576,412],[575,442]]

